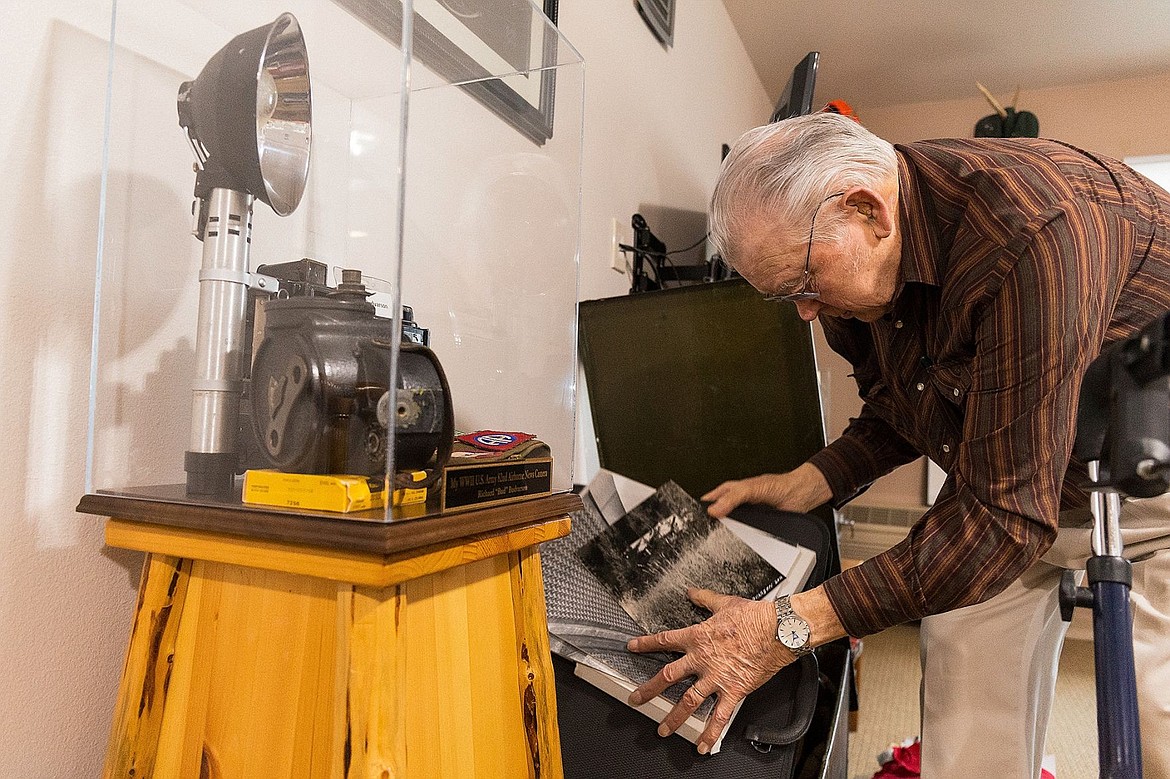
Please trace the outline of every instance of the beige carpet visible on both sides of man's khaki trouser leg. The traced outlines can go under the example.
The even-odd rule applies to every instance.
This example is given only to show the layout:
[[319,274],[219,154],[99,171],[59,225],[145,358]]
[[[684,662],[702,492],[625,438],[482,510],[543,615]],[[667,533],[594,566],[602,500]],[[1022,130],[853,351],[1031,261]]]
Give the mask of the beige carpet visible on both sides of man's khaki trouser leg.
[[[916,627],[890,628],[865,640],[861,710],[858,730],[849,733],[849,779],[870,779],[879,767],[879,752],[918,733],[918,678]],[[1093,644],[1068,640],[1048,728],[1048,752],[1057,756],[1057,779],[1097,775],[1095,706]]]

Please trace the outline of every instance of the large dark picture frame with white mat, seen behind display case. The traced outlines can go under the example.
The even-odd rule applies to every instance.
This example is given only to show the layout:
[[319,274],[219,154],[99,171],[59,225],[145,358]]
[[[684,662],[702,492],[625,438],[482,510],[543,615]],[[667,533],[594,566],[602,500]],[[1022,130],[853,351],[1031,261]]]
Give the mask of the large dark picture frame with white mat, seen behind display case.
[[[333,1],[400,44],[401,0]],[[541,1],[555,26],[559,0]],[[552,137],[558,39],[529,0],[414,0],[413,7],[419,62],[536,145]]]

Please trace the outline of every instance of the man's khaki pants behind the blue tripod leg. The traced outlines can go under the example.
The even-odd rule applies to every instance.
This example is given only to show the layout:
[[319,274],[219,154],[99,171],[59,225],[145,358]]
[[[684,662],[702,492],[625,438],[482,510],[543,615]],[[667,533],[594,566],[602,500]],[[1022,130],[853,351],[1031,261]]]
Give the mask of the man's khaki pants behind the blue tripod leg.
[[[1126,502],[1122,540],[1135,560],[1130,605],[1144,777],[1170,779],[1170,494]],[[1088,530],[1062,528],[1045,561],[997,597],[922,620],[923,779],[1040,775],[1067,630],[1060,575],[1083,567],[1088,554]]]

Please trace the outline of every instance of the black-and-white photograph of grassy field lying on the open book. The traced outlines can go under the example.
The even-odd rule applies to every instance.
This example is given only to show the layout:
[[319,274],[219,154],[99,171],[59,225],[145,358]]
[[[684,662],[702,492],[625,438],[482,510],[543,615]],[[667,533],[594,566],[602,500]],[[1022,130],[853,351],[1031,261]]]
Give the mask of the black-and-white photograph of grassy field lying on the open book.
[[700,622],[709,614],[687,587],[758,599],[784,580],[674,482],[581,546],[585,567],[647,633]]

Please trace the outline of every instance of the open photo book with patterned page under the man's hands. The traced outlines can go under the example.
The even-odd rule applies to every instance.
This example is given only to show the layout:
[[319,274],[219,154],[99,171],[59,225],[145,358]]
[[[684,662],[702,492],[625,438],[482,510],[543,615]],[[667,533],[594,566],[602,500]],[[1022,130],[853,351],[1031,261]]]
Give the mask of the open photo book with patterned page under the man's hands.
[[[601,470],[581,498],[572,532],[541,547],[550,641],[577,676],[622,703],[677,657],[631,653],[631,639],[710,616],[690,602],[688,587],[775,599],[798,592],[815,564],[811,550],[713,518],[674,482],[655,490]],[[689,684],[636,709],[661,722]],[[708,698],[677,735],[697,743],[714,703]],[[722,736],[711,753],[721,744]]]

